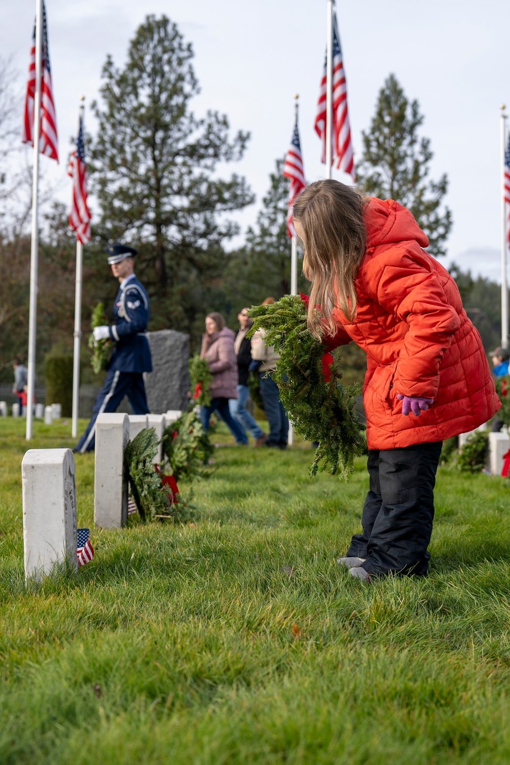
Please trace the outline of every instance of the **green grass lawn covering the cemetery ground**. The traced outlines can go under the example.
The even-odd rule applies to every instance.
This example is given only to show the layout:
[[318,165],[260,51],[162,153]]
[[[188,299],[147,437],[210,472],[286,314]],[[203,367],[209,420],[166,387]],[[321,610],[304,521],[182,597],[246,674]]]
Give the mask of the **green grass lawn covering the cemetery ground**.
[[96,557],[27,589],[26,448],[0,420],[0,763],[510,760],[508,480],[441,468],[430,577],[367,585],[335,562],[363,461],[310,481],[310,449],[218,449],[193,526],[103,532],[78,455]]

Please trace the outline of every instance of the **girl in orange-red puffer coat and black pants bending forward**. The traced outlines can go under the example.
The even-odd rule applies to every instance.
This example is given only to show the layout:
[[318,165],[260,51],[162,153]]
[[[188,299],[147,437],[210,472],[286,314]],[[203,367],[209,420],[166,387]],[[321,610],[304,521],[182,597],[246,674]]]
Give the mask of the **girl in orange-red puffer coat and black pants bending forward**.
[[397,202],[317,181],[294,204],[294,225],[312,282],[310,332],[329,327],[330,348],[354,340],[367,354],[370,488],[363,533],[339,562],[363,581],[427,575],[443,440],[501,406],[482,341],[453,278]]

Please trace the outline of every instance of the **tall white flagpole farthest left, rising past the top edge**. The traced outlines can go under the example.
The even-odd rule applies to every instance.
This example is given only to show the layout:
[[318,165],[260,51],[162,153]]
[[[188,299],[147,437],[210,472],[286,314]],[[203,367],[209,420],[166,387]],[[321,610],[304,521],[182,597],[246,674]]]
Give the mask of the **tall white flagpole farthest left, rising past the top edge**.
[[34,91],[34,170],[32,175],[32,239],[30,252],[30,308],[28,314],[27,425],[30,441],[34,432],[35,341],[37,333],[37,256],[39,246],[38,185],[39,132],[41,129],[41,37],[42,0],[35,0],[35,91]]

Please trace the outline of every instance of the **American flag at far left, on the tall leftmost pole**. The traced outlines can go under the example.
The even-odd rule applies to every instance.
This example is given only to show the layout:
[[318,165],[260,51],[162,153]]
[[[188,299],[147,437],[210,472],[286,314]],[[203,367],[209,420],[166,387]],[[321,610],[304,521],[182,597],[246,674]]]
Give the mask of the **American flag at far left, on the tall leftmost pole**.
[[[43,28],[41,50],[41,137],[39,138],[39,151],[41,154],[56,159],[57,150],[57,116],[51,86],[50,51],[48,49],[48,31],[46,22],[46,8],[43,2]],[[34,98],[35,98],[35,24],[32,35],[31,59],[28,67],[27,95],[24,101],[23,134],[21,141],[34,145]]]

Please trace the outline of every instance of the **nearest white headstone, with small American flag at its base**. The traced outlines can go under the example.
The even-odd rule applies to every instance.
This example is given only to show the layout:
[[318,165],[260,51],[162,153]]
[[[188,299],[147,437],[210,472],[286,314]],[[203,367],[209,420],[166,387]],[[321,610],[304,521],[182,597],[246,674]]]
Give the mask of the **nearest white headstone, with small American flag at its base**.
[[77,569],[76,483],[70,449],[30,449],[21,462],[24,574],[41,581],[63,563]]

